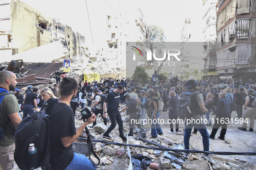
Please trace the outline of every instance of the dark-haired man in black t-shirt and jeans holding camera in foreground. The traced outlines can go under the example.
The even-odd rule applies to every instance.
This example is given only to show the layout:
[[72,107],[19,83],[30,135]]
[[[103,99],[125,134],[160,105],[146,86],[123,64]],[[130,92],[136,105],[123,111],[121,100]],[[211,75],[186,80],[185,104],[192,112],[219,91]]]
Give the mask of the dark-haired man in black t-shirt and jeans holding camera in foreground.
[[54,99],[50,116],[51,125],[51,166],[53,170],[64,169],[88,169],[96,170],[96,167],[84,155],[74,153],[72,143],[81,135],[84,128],[95,121],[92,114],[81,126],[75,129],[75,116],[69,107],[71,99],[77,94],[78,84],[71,77],[64,77],[59,87],[60,97]]

